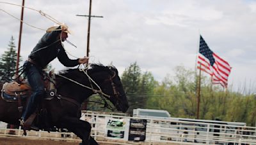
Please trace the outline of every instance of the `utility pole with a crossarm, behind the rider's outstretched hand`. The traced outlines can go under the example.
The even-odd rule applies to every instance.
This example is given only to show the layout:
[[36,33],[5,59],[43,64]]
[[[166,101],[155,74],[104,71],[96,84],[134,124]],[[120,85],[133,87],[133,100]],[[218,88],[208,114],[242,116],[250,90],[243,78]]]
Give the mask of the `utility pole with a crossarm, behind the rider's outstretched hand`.
[[[76,15],[76,16],[82,16],[82,17],[88,17],[88,31],[87,31],[87,47],[86,47],[86,57],[89,57],[90,52],[90,29],[91,29],[91,17],[97,17],[97,18],[103,18],[102,16],[92,16],[92,0],[90,0],[90,7],[89,7],[89,15]],[[88,64],[89,62],[87,62]],[[82,110],[87,109],[87,102],[84,101],[84,104],[81,107]]]

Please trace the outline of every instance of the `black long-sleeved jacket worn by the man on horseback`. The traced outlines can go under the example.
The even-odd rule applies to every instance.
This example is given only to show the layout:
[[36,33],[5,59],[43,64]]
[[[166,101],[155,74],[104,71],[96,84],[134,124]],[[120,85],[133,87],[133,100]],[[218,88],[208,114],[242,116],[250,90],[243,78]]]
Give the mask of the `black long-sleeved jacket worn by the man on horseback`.
[[[60,29],[60,27],[57,29]],[[35,61],[38,67],[46,67],[56,57],[66,67],[74,67],[79,64],[78,59],[68,58],[61,45],[60,37],[58,37],[60,33],[61,31],[46,32],[30,53],[29,58]]]

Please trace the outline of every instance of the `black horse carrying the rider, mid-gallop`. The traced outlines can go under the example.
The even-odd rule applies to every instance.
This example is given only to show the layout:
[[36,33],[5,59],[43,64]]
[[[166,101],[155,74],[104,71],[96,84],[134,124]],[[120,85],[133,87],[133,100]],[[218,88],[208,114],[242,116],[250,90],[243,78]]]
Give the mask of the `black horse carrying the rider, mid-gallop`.
[[[52,99],[44,99],[42,103],[43,108],[47,110],[47,120],[36,121],[38,127],[67,128],[80,137],[84,145],[97,144],[93,137],[90,137],[90,123],[79,120],[84,100],[94,93],[99,93],[110,100],[118,111],[125,113],[129,107],[118,71],[113,66],[92,64],[87,70],[61,71],[56,75],[56,90],[57,93]],[[20,113],[17,108],[17,102],[6,102],[0,97],[0,120],[19,125]],[[47,126],[44,125],[45,122]]]

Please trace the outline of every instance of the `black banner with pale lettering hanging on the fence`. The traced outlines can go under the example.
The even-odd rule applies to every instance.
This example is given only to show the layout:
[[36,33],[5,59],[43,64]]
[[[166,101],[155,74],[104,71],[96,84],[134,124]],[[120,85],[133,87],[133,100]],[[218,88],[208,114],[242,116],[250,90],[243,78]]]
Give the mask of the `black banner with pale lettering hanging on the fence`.
[[131,119],[129,141],[145,141],[147,120]]

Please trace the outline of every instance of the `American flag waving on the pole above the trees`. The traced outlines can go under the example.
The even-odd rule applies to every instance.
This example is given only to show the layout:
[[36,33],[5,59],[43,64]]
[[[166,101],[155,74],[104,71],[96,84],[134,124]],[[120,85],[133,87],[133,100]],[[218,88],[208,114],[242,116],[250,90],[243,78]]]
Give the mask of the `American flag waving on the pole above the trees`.
[[212,76],[213,84],[220,84],[227,88],[231,67],[227,61],[221,59],[210,50],[201,35],[197,64],[199,65],[197,66],[198,69]]

